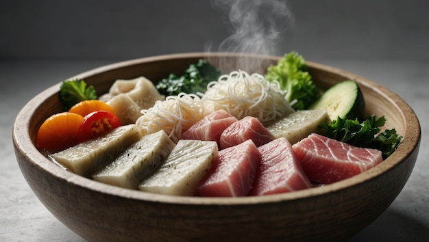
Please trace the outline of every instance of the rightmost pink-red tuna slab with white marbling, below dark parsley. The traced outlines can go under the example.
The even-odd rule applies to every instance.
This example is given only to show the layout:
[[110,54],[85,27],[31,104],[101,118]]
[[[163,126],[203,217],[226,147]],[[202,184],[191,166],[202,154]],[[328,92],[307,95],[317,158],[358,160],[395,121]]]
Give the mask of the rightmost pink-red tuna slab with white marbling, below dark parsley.
[[322,184],[350,178],[382,162],[380,150],[351,146],[315,133],[292,147],[308,178]]

